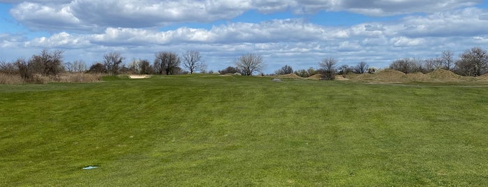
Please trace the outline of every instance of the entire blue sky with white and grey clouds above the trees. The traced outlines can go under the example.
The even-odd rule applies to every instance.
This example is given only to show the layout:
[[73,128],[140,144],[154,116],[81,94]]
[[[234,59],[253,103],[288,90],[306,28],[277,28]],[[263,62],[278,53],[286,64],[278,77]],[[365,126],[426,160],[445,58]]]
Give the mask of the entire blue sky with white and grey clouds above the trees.
[[253,53],[263,73],[289,65],[318,68],[360,61],[459,55],[488,47],[488,3],[481,0],[0,0],[0,60],[63,50],[64,61],[128,64],[156,52],[199,51],[207,70]]

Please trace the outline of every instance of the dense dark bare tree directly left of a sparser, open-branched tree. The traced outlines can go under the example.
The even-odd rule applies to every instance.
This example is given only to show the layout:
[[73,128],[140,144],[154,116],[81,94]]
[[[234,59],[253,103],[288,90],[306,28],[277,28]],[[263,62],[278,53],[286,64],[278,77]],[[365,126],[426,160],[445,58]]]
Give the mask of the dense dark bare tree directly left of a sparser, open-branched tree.
[[177,73],[181,60],[178,54],[174,52],[156,52],[156,59],[154,59],[154,68],[156,73],[166,75],[172,75]]

